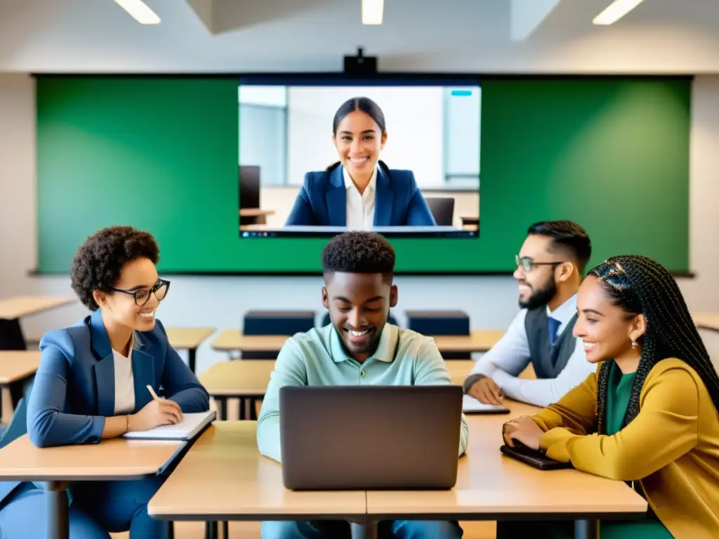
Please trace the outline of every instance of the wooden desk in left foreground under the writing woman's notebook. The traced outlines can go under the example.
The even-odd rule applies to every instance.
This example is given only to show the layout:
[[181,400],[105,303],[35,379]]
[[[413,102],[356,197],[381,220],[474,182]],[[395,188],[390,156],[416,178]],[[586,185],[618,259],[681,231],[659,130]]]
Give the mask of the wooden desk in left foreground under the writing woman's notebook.
[[68,539],[68,482],[156,474],[183,446],[179,441],[114,438],[98,444],[37,448],[25,435],[0,449],[0,481],[47,482],[47,538]]

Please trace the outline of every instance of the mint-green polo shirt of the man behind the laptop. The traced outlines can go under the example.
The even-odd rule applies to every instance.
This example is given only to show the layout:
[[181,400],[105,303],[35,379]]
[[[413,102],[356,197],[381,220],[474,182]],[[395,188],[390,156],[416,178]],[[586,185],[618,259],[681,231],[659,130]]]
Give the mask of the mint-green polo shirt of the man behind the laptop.
[[[280,387],[286,385],[444,384],[452,384],[452,377],[434,339],[415,331],[385,324],[375,354],[363,363],[345,351],[331,324],[297,333],[285,341],[270,375],[257,419],[257,446],[263,455],[280,461]],[[460,455],[469,436],[463,414]]]

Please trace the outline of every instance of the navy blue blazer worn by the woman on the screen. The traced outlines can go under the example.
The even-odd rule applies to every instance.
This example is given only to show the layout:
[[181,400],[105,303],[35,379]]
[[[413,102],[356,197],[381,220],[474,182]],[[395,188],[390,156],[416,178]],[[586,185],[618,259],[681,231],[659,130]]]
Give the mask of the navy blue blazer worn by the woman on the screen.
[[[347,226],[342,170],[307,172],[285,225]],[[436,226],[411,170],[377,167],[375,226]]]

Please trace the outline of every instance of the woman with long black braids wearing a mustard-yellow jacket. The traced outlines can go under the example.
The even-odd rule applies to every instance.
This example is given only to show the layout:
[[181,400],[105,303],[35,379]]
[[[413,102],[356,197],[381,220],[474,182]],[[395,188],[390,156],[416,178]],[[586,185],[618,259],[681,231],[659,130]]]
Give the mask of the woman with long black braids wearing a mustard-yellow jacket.
[[[577,311],[574,335],[600,367],[556,404],[506,423],[505,443],[631,482],[649,515],[603,522],[603,539],[718,538],[719,377],[677,283],[652,259],[614,257],[590,271]],[[533,523],[531,536],[560,527],[537,535]],[[498,527],[498,537],[518,533]]]

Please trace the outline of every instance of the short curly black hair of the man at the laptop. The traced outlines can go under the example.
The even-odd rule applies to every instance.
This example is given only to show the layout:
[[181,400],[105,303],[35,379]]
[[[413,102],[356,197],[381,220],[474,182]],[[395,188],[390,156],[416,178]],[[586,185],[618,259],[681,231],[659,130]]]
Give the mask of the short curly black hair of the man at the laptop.
[[322,272],[381,273],[392,280],[395,249],[380,234],[352,231],[334,236],[322,249]]

